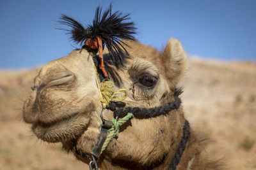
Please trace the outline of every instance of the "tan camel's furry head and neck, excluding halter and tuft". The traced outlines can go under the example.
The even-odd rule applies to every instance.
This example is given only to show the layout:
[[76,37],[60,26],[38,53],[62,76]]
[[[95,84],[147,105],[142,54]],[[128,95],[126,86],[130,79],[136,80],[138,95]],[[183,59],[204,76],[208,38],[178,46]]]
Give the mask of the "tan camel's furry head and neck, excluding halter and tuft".
[[[179,97],[178,83],[188,65],[179,40],[169,39],[163,52],[138,41],[125,40],[122,46],[129,57],[119,67],[108,60],[109,49],[104,49],[104,64],[114,89],[127,90],[126,98],[117,102],[116,108],[157,108]],[[102,110],[96,81],[100,70],[95,72],[94,63],[92,53],[81,48],[45,64],[35,77],[31,95],[23,107],[24,121],[32,124],[37,138],[62,143],[64,150],[86,164],[92,163],[102,117],[113,118],[113,110]],[[118,136],[97,158],[97,166],[100,169],[220,169],[218,162],[202,154],[201,141],[191,128],[178,162],[175,167],[170,166],[184,136],[184,124],[189,126],[182,104],[157,116],[134,115],[120,125]]]

